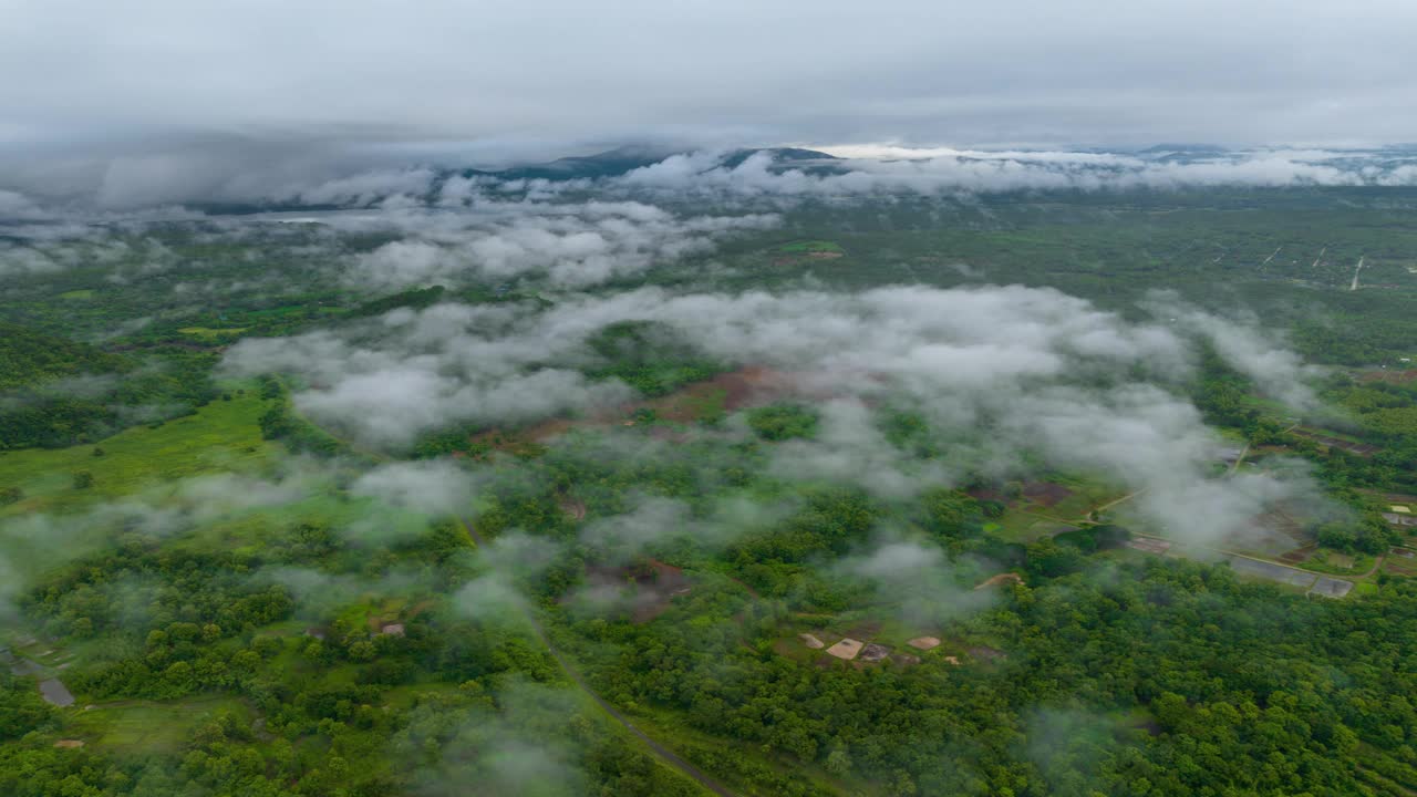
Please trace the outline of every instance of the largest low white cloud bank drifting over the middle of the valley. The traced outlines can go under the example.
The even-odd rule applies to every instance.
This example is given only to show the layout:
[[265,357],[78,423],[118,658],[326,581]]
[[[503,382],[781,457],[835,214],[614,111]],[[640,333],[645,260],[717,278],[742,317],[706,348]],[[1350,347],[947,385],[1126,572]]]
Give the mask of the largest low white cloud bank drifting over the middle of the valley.
[[[771,467],[782,478],[898,496],[969,472],[1012,478],[1027,457],[1041,455],[1144,489],[1141,506],[1155,519],[1186,508],[1197,520],[1193,533],[1216,539],[1311,485],[1302,476],[1212,478],[1220,442],[1175,391],[1192,372],[1196,342],[1209,339],[1281,400],[1311,401],[1309,374],[1258,330],[1165,309],[1187,315],[1131,323],[1083,299],[1022,286],[857,295],[639,289],[547,311],[395,311],[354,330],[244,340],[227,367],[295,372],[312,383],[296,406],[315,420],[371,444],[402,445],[452,421],[516,424],[625,400],[626,387],[588,381],[574,364],[604,325],[653,319],[724,362],[778,369],[805,394],[832,397],[815,440],[774,447]],[[867,411],[881,401],[917,407],[949,455],[921,462],[890,445]]]

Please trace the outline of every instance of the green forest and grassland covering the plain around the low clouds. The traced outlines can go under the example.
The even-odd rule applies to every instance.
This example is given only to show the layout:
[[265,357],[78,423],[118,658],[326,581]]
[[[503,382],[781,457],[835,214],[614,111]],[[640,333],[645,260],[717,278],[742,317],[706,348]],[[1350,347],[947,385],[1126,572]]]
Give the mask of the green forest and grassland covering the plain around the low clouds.
[[[1417,381],[1393,376],[1417,339],[1414,203],[808,201],[711,269],[656,264],[584,294],[470,275],[371,298],[341,269],[388,234],[319,225],[113,233],[108,265],[75,243],[81,265],[11,279],[0,303],[0,793],[704,793],[592,693],[744,796],[1417,791],[1417,564],[1383,518],[1387,495],[1417,494]],[[1305,254],[1261,268],[1280,244]],[[1360,254],[1372,286],[1350,292]],[[1136,494],[999,451],[989,407],[945,434],[884,379],[860,406],[871,450],[818,475],[798,458],[839,444],[833,414],[665,322],[595,319],[575,353],[524,355],[633,401],[540,427],[429,423],[411,451],[356,451],[296,411],[298,379],[217,381],[241,339],[377,339],[377,316],[445,301],[499,303],[497,325],[643,282],[985,281],[1128,316],[1158,286],[1240,305],[1328,363],[1312,410],[1216,350],[1158,387],[1244,452],[1206,485],[1304,461],[1339,511],[1271,508],[1274,545],[1353,591],[1241,577],[1179,540],[1161,556],[1183,535],[1138,520]],[[911,484],[863,486],[891,468]],[[856,658],[829,652],[846,640]],[[44,702],[45,679],[74,705]]]

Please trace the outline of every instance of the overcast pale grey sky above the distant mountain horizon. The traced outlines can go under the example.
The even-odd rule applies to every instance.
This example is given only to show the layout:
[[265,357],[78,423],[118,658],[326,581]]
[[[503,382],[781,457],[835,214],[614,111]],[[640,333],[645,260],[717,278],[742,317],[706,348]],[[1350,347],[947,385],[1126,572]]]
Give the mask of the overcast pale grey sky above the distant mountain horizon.
[[1417,140],[1411,0],[0,0],[0,142]]

